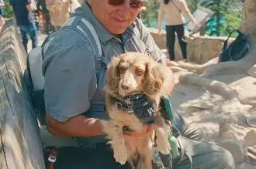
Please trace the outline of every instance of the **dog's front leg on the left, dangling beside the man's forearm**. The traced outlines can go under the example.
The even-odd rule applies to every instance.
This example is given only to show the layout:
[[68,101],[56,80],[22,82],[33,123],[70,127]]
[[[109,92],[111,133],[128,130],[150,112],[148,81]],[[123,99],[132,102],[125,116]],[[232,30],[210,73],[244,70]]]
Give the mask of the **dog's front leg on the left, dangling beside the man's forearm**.
[[109,139],[108,144],[112,146],[116,162],[122,165],[125,164],[127,161],[127,150],[123,138],[123,126],[114,123],[112,120],[102,120],[102,126]]

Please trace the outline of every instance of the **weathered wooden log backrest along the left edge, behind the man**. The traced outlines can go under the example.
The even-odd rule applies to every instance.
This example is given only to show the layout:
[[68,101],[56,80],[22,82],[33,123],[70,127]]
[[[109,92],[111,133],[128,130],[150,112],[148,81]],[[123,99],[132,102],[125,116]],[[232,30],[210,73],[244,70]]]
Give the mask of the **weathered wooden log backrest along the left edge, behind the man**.
[[0,37],[0,168],[44,169],[36,115],[23,72],[26,55],[16,26],[9,23]]

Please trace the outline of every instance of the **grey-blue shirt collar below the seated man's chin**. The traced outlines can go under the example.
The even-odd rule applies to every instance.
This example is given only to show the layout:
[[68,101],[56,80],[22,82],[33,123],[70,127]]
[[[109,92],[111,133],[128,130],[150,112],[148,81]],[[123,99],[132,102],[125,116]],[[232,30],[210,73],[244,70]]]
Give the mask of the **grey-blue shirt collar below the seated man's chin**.
[[[101,40],[101,42],[106,43],[112,38],[116,39],[116,37],[111,33],[109,33],[109,31],[102,25],[102,23],[95,18],[95,15],[93,15],[92,9],[90,8],[87,2],[85,2],[81,6],[81,8],[84,16],[92,22],[92,25],[94,26],[96,32],[98,33],[99,39]],[[125,32],[123,32],[123,34],[121,35],[122,41],[124,39],[129,39],[131,37],[134,26],[135,26],[135,22],[133,22],[133,24],[131,24],[128,27],[128,29],[126,29]]]

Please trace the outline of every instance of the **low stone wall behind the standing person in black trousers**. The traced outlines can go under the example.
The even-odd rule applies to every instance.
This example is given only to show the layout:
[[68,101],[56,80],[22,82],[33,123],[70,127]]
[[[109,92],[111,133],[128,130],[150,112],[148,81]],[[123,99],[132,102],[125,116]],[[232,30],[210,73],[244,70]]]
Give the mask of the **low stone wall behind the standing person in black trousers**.
[[[149,30],[154,41],[157,43],[157,46],[160,49],[166,49],[166,33],[163,32],[161,35],[158,35],[157,29],[150,28]],[[209,59],[219,56],[223,49],[223,42],[227,39],[227,37],[211,37],[208,35],[200,36],[198,34],[189,36],[188,32],[186,32],[185,35],[188,43],[187,57],[189,62],[194,63],[206,63]],[[231,38],[230,41],[232,40],[234,39]],[[182,53],[177,40],[175,42],[175,56],[178,60],[182,59]]]

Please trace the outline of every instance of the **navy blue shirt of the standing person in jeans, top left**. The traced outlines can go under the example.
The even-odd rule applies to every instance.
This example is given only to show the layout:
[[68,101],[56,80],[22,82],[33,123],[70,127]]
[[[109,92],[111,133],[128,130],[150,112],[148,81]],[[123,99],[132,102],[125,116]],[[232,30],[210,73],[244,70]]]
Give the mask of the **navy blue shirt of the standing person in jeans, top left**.
[[10,0],[12,5],[17,25],[29,25],[34,22],[32,12],[29,12],[26,5],[29,5],[31,0]]

